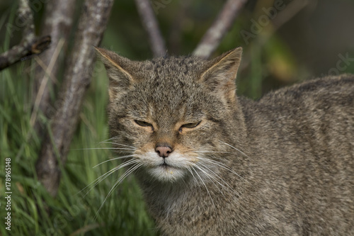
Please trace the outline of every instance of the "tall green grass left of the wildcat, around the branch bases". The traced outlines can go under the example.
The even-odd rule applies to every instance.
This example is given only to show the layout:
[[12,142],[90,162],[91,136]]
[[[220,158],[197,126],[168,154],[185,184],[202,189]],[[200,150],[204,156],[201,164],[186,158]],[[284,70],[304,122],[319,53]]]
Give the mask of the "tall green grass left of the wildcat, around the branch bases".
[[[122,172],[108,176],[86,196],[86,191],[80,193],[98,176],[119,164],[112,161],[93,168],[114,157],[114,153],[87,150],[103,147],[99,142],[108,139],[103,105],[108,99],[104,73],[93,77],[86,94],[67,164],[62,169],[57,198],[52,198],[43,189],[35,174],[40,138],[30,128],[33,78],[33,67],[29,62],[0,72],[0,217],[3,219],[0,234],[156,235],[154,222],[147,215],[133,176],[113,191],[97,218],[98,208]],[[11,158],[11,233],[4,225],[5,158]]]

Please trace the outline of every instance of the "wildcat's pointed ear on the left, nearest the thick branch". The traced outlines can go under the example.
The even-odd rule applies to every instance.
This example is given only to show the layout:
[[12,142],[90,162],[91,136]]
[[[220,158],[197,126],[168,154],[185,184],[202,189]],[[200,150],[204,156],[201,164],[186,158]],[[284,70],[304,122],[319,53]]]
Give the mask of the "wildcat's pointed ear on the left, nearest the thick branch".
[[105,50],[104,48],[95,47],[98,57],[105,65],[109,79],[109,99],[112,102],[119,96],[127,92],[127,89],[133,84],[134,79],[127,67],[132,67],[134,62],[125,57],[121,57],[115,52]]

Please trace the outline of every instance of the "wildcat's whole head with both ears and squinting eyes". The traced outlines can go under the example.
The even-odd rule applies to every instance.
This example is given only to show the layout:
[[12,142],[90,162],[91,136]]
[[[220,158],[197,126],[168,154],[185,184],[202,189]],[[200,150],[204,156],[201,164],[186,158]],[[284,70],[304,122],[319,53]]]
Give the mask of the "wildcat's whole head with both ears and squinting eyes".
[[242,125],[235,124],[243,118],[235,94],[241,47],[214,60],[143,62],[96,50],[109,78],[113,142],[153,179],[176,181],[193,174],[206,156],[224,151],[222,143],[241,133]]

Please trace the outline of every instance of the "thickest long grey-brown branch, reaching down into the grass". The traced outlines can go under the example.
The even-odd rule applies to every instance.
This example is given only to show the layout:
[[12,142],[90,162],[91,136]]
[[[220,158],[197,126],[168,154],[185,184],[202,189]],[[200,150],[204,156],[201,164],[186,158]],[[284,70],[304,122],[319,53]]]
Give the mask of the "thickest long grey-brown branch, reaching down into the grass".
[[61,106],[56,111],[42,150],[36,171],[38,179],[52,196],[57,194],[60,180],[59,163],[64,165],[76,123],[79,118],[84,93],[91,81],[94,50],[103,36],[113,0],[86,0],[79,19],[74,50],[64,72]]

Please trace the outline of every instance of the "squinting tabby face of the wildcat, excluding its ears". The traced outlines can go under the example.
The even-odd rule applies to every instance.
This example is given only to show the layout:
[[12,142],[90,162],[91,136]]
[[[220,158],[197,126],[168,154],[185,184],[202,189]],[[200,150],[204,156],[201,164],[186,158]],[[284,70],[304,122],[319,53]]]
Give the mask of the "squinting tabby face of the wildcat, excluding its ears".
[[[198,162],[196,151],[210,146],[210,133],[217,128],[217,116],[210,111],[221,102],[208,98],[202,88],[190,91],[192,84],[170,84],[170,91],[166,86],[150,79],[133,86],[117,101],[123,106],[116,104],[110,113],[110,129],[120,143],[129,140],[135,147],[133,158],[154,179],[173,181]],[[200,101],[208,100],[208,106],[200,106]]]

